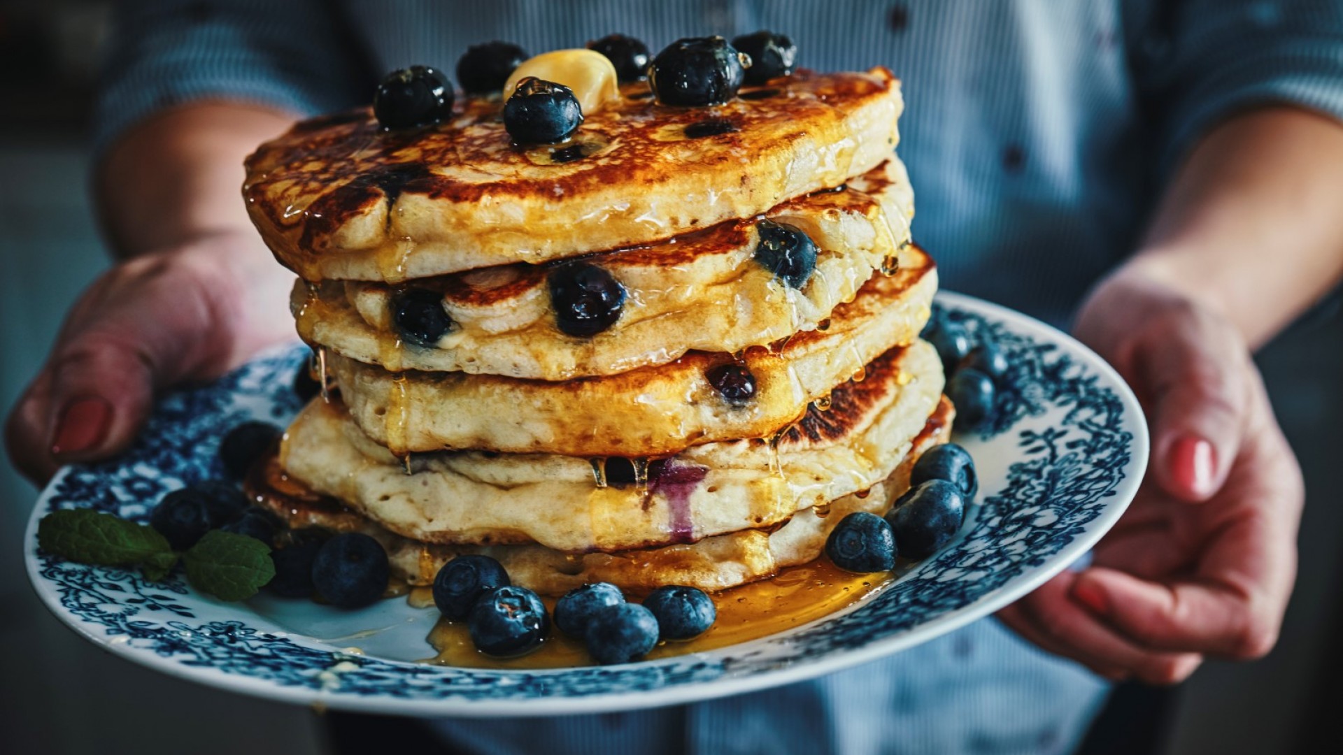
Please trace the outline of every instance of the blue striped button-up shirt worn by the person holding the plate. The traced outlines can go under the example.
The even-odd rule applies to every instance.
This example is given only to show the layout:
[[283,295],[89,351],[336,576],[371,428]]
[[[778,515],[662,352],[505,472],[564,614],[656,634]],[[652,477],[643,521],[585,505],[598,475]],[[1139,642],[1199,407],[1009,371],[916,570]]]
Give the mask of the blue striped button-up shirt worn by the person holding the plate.
[[[1056,324],[1218,120],[1269,102],[1343,116],[1343,4],[1327,0],[138,0],[118,16],[98,144],[200,98],[346,107],[383,71],[451,73],[490,39],[540,52],[619,31],[657,50],[756,28],[794,36],[807,67],[894,70],[915,236],[944,286]],[[439,728],[478,752],[1061,752],[1103,695],[986,621],[729,701]]]

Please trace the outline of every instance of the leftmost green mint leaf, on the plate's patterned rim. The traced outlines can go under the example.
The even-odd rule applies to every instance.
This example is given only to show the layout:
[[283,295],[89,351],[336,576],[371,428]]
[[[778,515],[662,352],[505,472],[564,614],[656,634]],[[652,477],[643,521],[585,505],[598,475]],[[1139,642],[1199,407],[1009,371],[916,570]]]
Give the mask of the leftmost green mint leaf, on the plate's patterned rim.
[[152,527],[93,509],[60,509],[42,517],[38,545],[63,559],[98,566],[163,563],[165,555],[172,556],[168,539]]

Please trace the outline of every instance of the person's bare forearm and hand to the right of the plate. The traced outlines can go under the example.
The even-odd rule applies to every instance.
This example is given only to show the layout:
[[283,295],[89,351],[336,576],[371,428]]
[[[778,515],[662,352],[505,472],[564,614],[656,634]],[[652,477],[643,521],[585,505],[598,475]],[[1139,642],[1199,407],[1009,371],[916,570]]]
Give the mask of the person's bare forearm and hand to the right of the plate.
[[1242,113],[1194,148],[1143,250],[1082,305],[1077,336],[1133,386],[1152,431],[1129,512],[999,615],[1113,678],[1179,681],[1272,649],[1304,492],[1250,348],[1343,275],[1343,125]]

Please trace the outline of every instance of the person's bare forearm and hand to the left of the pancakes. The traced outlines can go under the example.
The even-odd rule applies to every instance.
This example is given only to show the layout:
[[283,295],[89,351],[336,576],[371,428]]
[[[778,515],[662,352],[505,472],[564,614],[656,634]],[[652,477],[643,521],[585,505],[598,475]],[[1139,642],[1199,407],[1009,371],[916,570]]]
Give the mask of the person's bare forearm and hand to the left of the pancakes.
[[291,116],[185,105],[132,128],[107,152],[97,204],[120,265],[71,309],[15,406],[15,465],[46,480],[63,462],[126,447],[154,392],[215,378],[293,339],[293,274],[247,219],[243,159]]

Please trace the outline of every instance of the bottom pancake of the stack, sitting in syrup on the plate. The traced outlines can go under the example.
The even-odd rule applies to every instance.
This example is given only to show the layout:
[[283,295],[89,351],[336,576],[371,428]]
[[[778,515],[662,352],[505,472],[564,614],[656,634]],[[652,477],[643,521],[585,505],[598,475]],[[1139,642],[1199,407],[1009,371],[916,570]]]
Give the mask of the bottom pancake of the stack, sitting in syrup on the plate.
[[643,594],[663,584],[689,584],[713,591],[772,576],[783,567],[819,558],[830,529],[851,512],[885,513],[908,490],[915,461],[932,446],[947,442],[952,414],[951,403],[943,398],[886,480],[865,492],[843,496],[829,508],[798,512],[780,527],[743,529],[694,544],[614,553],[564,553],[541,545],[419,543],[389,532],[338,501],[285,480],[275,469],[278,465],[271,466],[270,474],[254,474],[247,488],[255,501],[282,515],[290,527],[372,535],[387,549],[392,575],[415,586],[431,584],[438,570],[457,555],[485,553],[504,564],[513,584],[543,595],[563,595],[590,582],[611,582],[631,594]]

